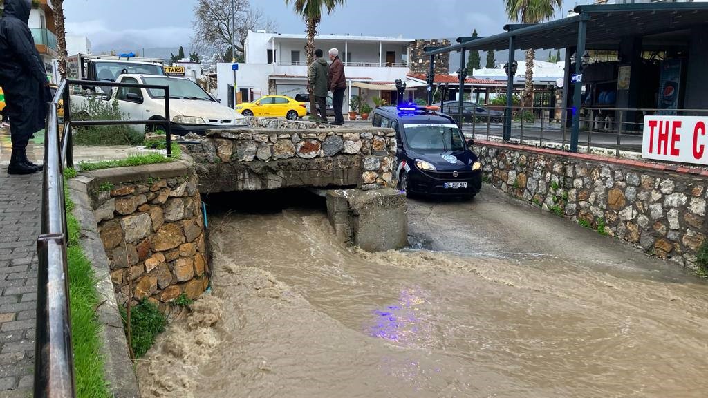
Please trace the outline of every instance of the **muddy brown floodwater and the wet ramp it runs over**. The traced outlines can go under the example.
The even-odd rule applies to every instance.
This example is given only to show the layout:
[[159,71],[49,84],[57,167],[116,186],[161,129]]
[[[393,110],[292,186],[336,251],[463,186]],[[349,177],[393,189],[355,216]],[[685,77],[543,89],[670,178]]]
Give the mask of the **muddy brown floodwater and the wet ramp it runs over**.
[[367,254],[321,203],[236,203],[143,397],[708,395],[707,285],[612,239],[484,193],[411,201],[416,248]]

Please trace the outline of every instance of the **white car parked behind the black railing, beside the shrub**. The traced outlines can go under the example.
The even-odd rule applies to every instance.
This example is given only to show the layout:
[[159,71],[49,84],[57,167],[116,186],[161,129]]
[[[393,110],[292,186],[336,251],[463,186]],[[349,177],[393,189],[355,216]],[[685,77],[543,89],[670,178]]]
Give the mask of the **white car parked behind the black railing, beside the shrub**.
[[[246,125],[246,118],[235,110],[217,102],[198,84],[181,77],[122,74],[117,81],[122,83],[155,84],[169,86],[170,117],[172,133],[185,135],[194,132],[204,135],[207,128]],[[133,89],[121,87],[115,90],[115,101],[130,120],[165,118],[164,93],[160,89]],[[147,130],[159,126],[139,126]]]

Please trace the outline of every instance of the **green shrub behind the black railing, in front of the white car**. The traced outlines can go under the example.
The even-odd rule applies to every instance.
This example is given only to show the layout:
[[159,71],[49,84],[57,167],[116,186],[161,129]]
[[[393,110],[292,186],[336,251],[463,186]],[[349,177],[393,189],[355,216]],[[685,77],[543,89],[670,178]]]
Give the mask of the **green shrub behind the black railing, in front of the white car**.
[[[105,101],[88,97],[78,107],[72,107],[76,120],[127,120],[125,113],[118,109],[118,101]],[[74,127],[74,144],[78,145],[139,145],[144,133],[133,126],[87,126]]]

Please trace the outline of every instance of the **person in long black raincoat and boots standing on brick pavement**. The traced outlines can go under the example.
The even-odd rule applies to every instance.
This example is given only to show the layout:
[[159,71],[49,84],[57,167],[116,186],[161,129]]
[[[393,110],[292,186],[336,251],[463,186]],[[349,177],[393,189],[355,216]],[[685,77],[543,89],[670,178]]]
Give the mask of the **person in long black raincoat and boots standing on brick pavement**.
[[8,174],[33,174],[42,166],[27,159],[32,135],[45,127],[50,101],[47,72],[27,25],[31,0],[5,0],[0,19],[0,86],[5,91],[5,111],[12,121],[12,157]]

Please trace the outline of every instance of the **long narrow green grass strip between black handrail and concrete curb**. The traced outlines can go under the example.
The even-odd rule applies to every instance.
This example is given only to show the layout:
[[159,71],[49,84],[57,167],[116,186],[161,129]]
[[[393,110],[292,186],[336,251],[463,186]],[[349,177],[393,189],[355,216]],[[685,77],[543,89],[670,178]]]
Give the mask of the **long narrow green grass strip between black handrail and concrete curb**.
[[110,397],[108,385],[103,377],[101,339],[98,337],[101,324],[96,319],[96,307],[99,305],[96,280],[91,263],[79,246],[79,222],[69,212],[69,207],[73,208],[74,203],[67,197],[69,312],[72,317],[76,397]]

